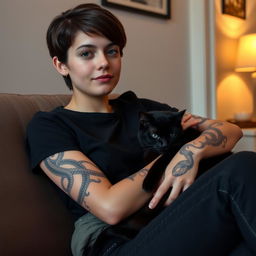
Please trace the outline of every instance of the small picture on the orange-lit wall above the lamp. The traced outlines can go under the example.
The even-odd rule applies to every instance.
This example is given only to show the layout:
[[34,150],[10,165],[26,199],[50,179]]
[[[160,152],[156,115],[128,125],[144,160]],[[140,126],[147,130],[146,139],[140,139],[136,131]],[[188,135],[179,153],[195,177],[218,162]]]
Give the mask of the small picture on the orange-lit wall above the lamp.
[[246,0],[222,0],[222,13],[246,19]]

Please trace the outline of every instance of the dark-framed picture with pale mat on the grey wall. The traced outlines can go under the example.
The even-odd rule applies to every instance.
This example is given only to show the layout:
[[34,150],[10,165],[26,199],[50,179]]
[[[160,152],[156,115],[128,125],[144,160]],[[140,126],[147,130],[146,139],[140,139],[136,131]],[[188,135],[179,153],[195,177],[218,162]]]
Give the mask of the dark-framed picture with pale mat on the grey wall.
[[162,19],[171,18],[171,0],[102,0],[102,5],[126,11],[155,16]]

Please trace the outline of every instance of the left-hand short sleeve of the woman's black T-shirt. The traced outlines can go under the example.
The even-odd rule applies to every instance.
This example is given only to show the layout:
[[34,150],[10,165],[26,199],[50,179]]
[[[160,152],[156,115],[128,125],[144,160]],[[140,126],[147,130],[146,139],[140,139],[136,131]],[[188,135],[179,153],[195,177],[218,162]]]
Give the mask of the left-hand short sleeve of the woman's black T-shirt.
[[59,152],[79,150],[72,131],[52,112],[38,112],[27,127],[27,151],[34,169],[42,160]]

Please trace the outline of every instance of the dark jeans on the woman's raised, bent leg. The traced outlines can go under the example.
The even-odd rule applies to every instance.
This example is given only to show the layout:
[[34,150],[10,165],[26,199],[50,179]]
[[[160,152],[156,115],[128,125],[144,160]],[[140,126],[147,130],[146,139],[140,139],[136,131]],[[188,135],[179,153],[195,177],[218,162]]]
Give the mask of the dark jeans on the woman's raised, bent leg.
[[100,255],[256,255],[256,153],[239,152],[200,176],[132,240]]

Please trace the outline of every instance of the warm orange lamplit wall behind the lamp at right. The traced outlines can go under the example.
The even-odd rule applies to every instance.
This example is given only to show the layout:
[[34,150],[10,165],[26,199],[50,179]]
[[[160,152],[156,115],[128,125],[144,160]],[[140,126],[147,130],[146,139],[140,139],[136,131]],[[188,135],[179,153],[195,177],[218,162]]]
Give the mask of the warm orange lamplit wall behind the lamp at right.
[[217,117],[225,120],[232,119],[236,112],[251,112],[253,108],[255,81],[250,73],[236,73],[234,68],[239,37],[256,32],[256,2],[246,1],[245,20],[223,15],[220,0],[215,0],[215,9]]

